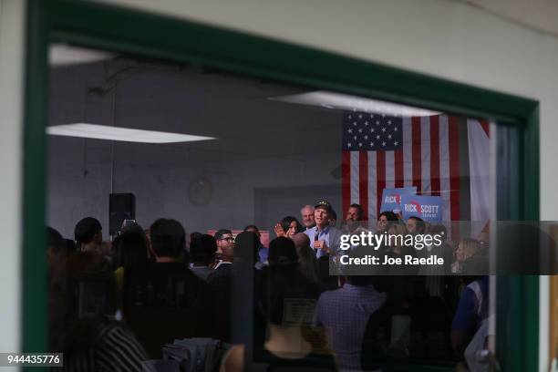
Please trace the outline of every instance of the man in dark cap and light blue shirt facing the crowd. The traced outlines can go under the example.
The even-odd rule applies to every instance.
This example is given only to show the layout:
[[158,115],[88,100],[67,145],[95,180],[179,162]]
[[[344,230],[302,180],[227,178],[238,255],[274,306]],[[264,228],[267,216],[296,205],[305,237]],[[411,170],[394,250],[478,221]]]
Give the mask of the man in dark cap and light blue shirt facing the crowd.
[[334,256],[339,249],[342,232],[330,225],[332,211],[329,202],[318,202],[314,210],[315,226],[304,232],[310,238],[316,258]]

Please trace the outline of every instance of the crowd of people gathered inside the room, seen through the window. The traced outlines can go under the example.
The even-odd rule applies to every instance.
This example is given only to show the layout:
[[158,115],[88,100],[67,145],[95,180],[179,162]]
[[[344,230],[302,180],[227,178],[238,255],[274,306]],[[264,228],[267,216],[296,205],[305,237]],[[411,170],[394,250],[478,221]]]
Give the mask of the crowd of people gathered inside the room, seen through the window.
[[[180,222],[159,219],[149,229],[127,224],[112,242],[92,217],[76,224],[73,239],[47,228],[50,349],[65,353],[69,370],[139,371],[174,339],[233,342],[233,307],[240,306],[253,312],[251,355],[269,370],[381,370],[379,361],[389,357],[467,366],[489,294],[486,276],[467,274],[486,265],[487,244],[453,242],[444,225],[402,221],[395,212],[379,213],[375,226],[366,220],[351,204],[337,227],[329,202],[305,205],[299,218],[274,226],[269,246],[254,224],[236,236],[226,228],[187,235]],[[437,254],[445,263],[408,273],[330,274],[341,236],[368,231],[441,234],[441,246],[393,244],[377,254]],[[356,246],[347,254],[366,253]],[[246,277],[253,284],[248,304],[232,289]],[[239,350],[223,350],[222,369],[242,369]]]

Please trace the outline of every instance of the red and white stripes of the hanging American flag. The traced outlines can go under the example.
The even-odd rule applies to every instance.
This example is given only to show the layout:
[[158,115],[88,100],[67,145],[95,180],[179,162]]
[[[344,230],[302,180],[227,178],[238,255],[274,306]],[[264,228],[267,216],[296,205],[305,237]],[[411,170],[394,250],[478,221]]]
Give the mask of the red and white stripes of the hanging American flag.
[[444,200],[444,221],[460,220],[458,121],[439,115],[403,119],[403,148],[344,151],[343,208],[359,203],[375,220],[385,188],[416,186],[418,194]]

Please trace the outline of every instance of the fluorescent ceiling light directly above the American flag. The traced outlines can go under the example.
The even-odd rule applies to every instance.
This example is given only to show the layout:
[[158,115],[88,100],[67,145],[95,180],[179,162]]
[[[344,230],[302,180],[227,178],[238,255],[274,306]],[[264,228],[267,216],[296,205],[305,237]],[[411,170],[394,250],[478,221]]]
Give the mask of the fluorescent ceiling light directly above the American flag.
[[325,109],[374,112],[391,116],[425,117],[440,114],[438,111],[430,111],[429,109],[418,109],[398,103],[349,96],[347,94],[332,93],[323,90],[290,96],[271,97],[269,99],[301,105],[318,106]]

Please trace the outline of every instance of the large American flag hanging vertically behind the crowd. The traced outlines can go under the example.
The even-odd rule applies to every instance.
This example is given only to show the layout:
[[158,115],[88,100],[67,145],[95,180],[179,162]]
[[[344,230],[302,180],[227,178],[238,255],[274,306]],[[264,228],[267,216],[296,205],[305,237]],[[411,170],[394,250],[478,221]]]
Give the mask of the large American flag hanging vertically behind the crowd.
[[343,119],[343,210],[360,204],[374,221],[385,188],[416,186],[441,196],[442,219],[460,220],[458,119],[346,111]]

